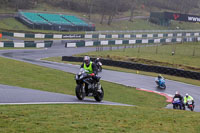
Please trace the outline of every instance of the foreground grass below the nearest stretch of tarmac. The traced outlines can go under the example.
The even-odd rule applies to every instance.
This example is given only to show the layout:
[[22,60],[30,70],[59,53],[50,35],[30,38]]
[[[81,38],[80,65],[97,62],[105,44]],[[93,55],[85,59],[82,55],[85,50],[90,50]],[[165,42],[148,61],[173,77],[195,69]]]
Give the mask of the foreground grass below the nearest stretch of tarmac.
[[0,132],[198,133],[200,114],[104,105],[0,106]]

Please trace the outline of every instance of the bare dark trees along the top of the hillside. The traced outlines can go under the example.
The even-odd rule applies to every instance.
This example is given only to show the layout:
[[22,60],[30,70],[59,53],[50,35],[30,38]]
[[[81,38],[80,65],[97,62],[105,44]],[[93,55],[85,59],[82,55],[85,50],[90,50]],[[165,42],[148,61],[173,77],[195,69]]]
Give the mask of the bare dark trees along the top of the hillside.
[[113,18],[120,12],[130,11],[132,21],[133,14],[138,8],[147,11],[173,10],[179,13],[190,13],[194,8],[199,8],[199,0],[1,0],[0,7],[6,6],[18,9],[33,9],[41,3],[51,6],[69,9],[76,12],[85,12],[90,19],[92,14],[101,15],[100,23],[105,16],[107,24],[112,23]]

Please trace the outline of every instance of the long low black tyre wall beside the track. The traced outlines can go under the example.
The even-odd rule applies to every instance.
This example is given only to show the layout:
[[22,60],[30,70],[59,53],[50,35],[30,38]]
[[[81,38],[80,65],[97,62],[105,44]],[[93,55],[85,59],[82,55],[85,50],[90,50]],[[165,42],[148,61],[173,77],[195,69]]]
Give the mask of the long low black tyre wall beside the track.
[[[95,60],[95,58],[91,58],[91,60]],[[82,62],[83,57],[62,56],[62,61]],[[156,72],[156,73],[200,80],[200,72],[186,71],[164,66],[152,66],[152,65],[145,65],[132,62],[113,61],[108,59],[101,59],[101,62],[103,65],[107,66],[115,66],[115,67],[128,68],[146,72]]]

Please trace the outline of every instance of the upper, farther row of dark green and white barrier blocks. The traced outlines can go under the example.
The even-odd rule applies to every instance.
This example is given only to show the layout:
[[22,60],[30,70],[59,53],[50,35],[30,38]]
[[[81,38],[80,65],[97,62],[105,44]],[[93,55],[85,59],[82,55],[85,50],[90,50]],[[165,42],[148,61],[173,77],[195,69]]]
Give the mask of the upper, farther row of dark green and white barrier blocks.
[[115,34],[108,34],[108,33],[96,33],[94,34],[33,34],[33,33],[13,33],[13,32],[2,32],[3,36],[12,36],[12,37],[23,37],[23,38],[57,38],[57,39],[130,39],[130,38],[168,38],[168,37],[199,37],[200,31],[179,31],[179,32],[169,32],[169,33],[115,33]]

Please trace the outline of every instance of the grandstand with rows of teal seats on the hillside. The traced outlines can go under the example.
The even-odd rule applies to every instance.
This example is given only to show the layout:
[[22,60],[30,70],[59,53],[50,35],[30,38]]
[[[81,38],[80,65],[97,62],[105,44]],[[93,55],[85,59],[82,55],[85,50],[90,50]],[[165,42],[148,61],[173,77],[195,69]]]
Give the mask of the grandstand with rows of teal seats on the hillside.
[[18,15],[19,21],[31,28],[63,30],[63,31],[93,31],[94,25],[88,24],[84,20],[66,14],[23,12]]

